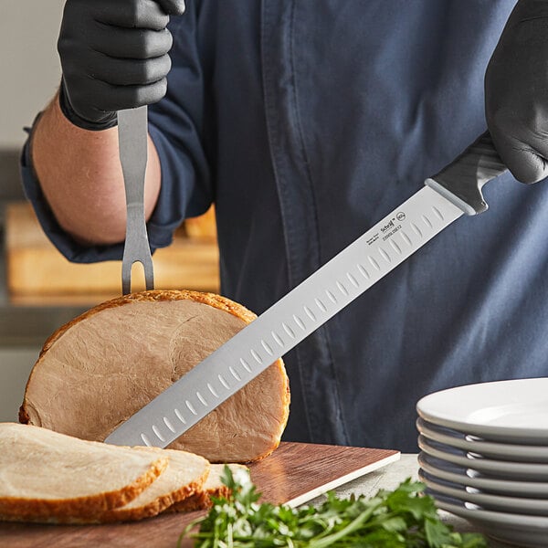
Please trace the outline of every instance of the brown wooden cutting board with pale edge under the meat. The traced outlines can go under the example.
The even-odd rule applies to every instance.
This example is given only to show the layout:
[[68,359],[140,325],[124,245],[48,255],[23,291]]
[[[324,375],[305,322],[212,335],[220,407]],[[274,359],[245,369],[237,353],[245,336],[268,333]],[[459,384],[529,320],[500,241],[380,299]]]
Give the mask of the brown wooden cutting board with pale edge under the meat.
[[[249,466],[261,501],[297,506],[400,457],[388,449],[282,442],[269,458]],[[0,522],[0,546],[9,548],[175,548],[187,523],[203,511],[166,514],[110,525],[40,525]],[[192,542],[186,540],[184,548]]]

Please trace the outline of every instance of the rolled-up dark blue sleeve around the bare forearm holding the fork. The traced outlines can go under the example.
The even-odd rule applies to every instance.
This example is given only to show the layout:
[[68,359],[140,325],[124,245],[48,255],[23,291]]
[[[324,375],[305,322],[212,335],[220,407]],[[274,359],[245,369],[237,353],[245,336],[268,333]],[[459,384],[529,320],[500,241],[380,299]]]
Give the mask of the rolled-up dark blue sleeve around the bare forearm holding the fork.
[[[184,16],[174,17],[174,47],[168,92],[149,108],[149,132],[160,157],[162,186],[158,203],[147,224],[151,249],[169,246],[174,230],[187,216],[205,212],[212,202],[209,166],[203,130],[204,79],[195,36],[194,3]],[[123,244],[85,246],[59,225],[42,193],[31,162],[27,140],[21,154],[21,175],[26,197],[33,205],[47,237],[71,262],[120,260]]]

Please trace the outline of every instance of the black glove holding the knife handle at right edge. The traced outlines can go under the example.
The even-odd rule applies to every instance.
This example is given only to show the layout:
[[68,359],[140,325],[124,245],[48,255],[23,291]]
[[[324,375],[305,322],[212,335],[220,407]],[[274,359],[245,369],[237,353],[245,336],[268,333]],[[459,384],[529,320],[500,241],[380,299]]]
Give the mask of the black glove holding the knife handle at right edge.
[[548,176],[548,1],[520,0],[485,75],[487,125],[522,183]]

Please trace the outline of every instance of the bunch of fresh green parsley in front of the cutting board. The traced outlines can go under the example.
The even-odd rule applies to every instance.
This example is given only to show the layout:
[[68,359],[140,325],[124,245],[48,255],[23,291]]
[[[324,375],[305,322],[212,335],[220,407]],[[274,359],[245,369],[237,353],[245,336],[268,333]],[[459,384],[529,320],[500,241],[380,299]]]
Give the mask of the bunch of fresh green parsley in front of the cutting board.
[[[441,522],[434,500],[422,493],[423,483],[406,479],[393,491],[373,498],[340,499],[333,492],[321,506],[291,509],[259,503],[260,493],[247,473],[233,475],[225,467],[223,482],[231,490],[214,499],[209,513],[179,539],[199,548],[486,548],[479,533],[454,532]],[[193,532],[199,526],[197,532]]]

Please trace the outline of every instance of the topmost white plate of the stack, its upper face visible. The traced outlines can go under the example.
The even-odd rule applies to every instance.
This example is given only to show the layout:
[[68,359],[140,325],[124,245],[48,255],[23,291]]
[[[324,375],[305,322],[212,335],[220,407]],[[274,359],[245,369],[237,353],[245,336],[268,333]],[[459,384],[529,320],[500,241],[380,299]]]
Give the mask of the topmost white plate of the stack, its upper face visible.
[[548,445],[548,377],[449,388],[421,398],[416,411],[487,440]]

